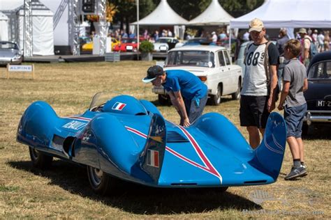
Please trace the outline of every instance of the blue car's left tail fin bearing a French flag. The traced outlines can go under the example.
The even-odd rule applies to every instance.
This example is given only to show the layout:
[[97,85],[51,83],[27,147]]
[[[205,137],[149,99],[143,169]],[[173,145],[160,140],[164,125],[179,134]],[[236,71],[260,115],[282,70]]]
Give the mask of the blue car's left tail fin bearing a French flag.
[[163,117],[157,113],[152,116],[145,148],[140,155],[140,166],[157,183],[161,173],[165,153],[166,129]]

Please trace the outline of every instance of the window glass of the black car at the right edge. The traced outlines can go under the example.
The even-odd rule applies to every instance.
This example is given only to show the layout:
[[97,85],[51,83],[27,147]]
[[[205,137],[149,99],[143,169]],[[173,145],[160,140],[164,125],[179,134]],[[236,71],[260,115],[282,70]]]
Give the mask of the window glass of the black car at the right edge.
[[323,61],[311,66],[308,79],[331,79],[331,61]]

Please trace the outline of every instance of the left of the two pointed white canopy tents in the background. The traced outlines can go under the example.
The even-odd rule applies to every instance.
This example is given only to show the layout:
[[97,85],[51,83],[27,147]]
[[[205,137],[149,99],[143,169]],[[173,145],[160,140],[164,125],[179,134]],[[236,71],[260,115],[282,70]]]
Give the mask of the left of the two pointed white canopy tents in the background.
[[[166,0],[161,0],[152,13],[139,20],[141,26],[174,26],[175,36],[179,38],[184,38],[186,23],[187,20],[175,13]],[[138,22],[131,24],[137,25]]]

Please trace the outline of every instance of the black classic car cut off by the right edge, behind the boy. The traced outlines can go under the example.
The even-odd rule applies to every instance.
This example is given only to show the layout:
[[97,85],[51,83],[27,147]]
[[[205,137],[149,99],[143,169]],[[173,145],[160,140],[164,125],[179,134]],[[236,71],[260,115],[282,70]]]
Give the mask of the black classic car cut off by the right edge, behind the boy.
[[304,92],[307,113],[302,132],[309,126],[331,125],[331,51],[316,54],[307,69],[308,90]]

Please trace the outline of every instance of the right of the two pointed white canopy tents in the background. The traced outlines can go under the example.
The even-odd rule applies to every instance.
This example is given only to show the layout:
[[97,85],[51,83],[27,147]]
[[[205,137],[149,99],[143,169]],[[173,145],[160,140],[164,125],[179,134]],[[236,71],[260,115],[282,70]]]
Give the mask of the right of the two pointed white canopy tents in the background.
[[233,19],[226,10],[222,8],[219,4],[219,1],[212,0],[212,3],[208,8],[198,15],[198,17],[191,19],[187,24],[188,25],[226,25],[230,23],[230,19]]

